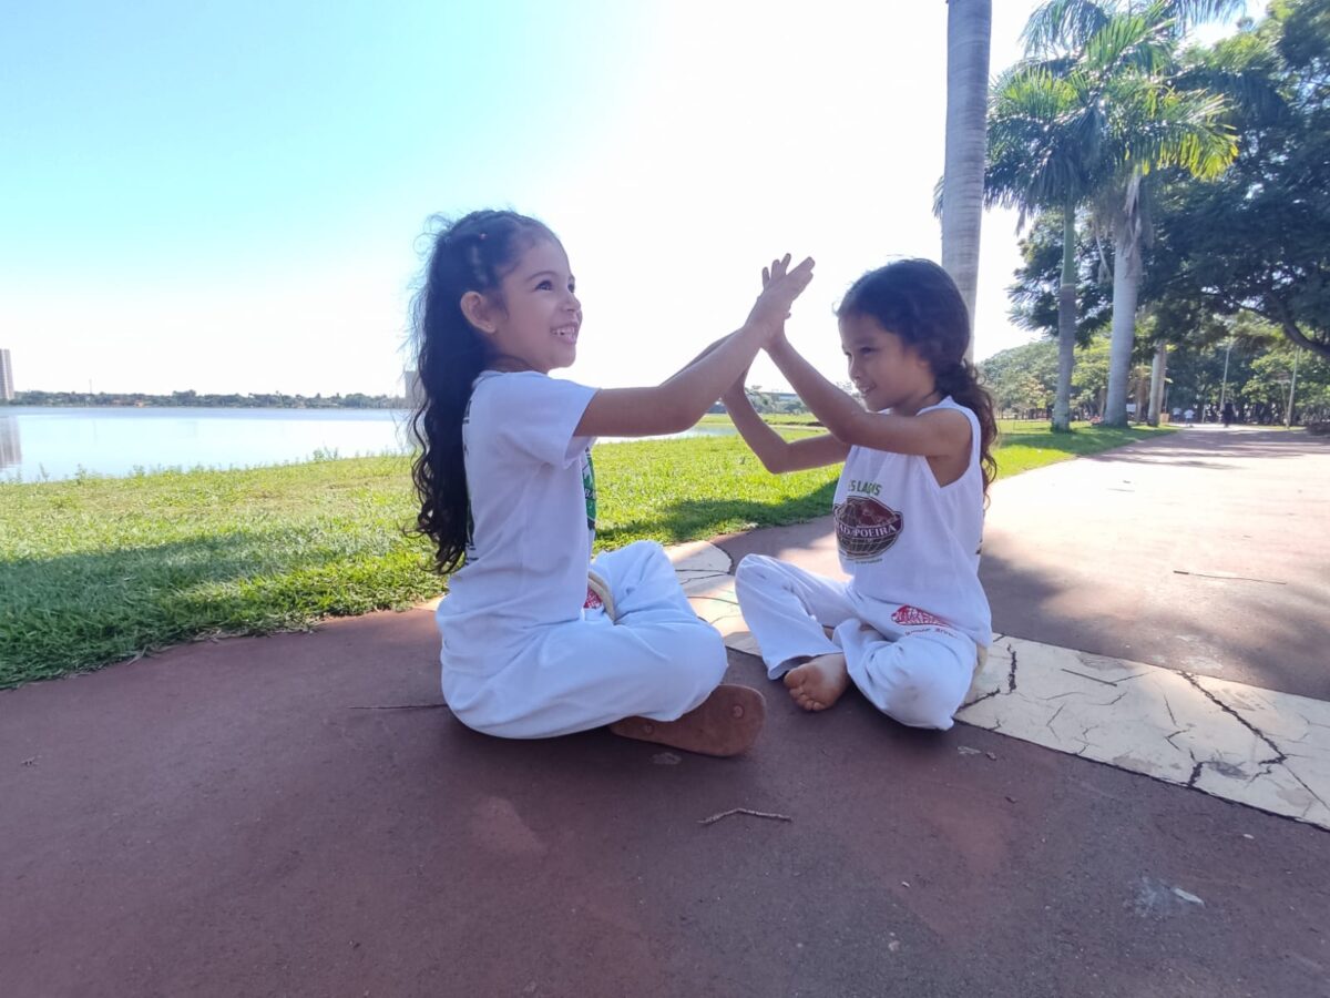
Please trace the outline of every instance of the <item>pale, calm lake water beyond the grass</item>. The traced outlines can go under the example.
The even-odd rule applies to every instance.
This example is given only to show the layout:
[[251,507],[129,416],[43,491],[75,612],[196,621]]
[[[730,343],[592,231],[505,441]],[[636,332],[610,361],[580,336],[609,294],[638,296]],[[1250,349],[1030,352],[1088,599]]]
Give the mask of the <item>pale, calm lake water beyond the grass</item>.
[[[0,407],[0,480],[132,475],[137,470],[257,467],[406,454],[410,414],[394,409]],[[724,426],[684,436],[722,435]],[[606,442],[609,438],[604,438]]]

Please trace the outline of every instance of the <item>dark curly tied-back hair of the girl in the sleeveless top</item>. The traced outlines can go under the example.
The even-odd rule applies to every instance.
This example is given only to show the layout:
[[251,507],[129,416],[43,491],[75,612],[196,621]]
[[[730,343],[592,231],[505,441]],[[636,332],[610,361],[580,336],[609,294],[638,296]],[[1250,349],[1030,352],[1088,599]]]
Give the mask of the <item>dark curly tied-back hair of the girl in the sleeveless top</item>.
[[979,418],[979,463],[988,495],[988,486],[998,475],[992,455],[998,420],[992,398],[966,359],[970,311],[951,275],[930,259],[898,259],[855,281],[837,315],[876,319],[884,330],[914,346],[932,369],[938,391]]

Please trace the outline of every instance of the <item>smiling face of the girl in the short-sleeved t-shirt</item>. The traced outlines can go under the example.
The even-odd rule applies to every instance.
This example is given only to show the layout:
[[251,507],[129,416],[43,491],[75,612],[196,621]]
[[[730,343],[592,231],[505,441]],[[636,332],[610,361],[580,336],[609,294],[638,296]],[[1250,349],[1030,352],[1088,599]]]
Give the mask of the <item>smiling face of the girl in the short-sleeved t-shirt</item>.
[[496,367],[549,374],[577,359],[581,302],[575,286],[564,248],[537,238],[499,282],[501,301],[468,291],[462,307],[497,354]]

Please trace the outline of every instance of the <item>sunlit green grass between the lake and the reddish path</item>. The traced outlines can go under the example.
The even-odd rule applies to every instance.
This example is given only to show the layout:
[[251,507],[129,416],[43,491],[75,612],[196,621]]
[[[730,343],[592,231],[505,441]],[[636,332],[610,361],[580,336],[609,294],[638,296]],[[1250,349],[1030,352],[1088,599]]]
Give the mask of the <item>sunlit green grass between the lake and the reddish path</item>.
[[[1000,474],[1152,432],[1011,426]],[[602,444],[596,468],[609,548],[809,520],[838,472],[769,475],[733,436]],[[403,532],[414,515],[394,456],[0,484],[0,689],[436,596],[427,546]]]

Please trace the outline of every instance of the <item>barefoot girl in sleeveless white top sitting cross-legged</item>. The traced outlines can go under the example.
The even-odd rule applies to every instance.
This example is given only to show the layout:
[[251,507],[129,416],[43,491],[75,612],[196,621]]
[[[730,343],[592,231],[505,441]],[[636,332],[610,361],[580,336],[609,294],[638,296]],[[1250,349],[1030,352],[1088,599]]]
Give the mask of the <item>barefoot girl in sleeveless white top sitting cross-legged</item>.
[[769,471],[845,462],[833,514],[850,582],[749,555],[735,579],[739,608],[767,676],[783,677],[805,711],[831,707],[854,683],[888,717],[946,729],[992,639],[979,547],[994,403],[966,361],[964,299],[936,263],[903,259],[864,274],[837,314],[862,405],[783,335],[767,346],[830,434],[782,439],[753,411],[742,379],[724,401]]

